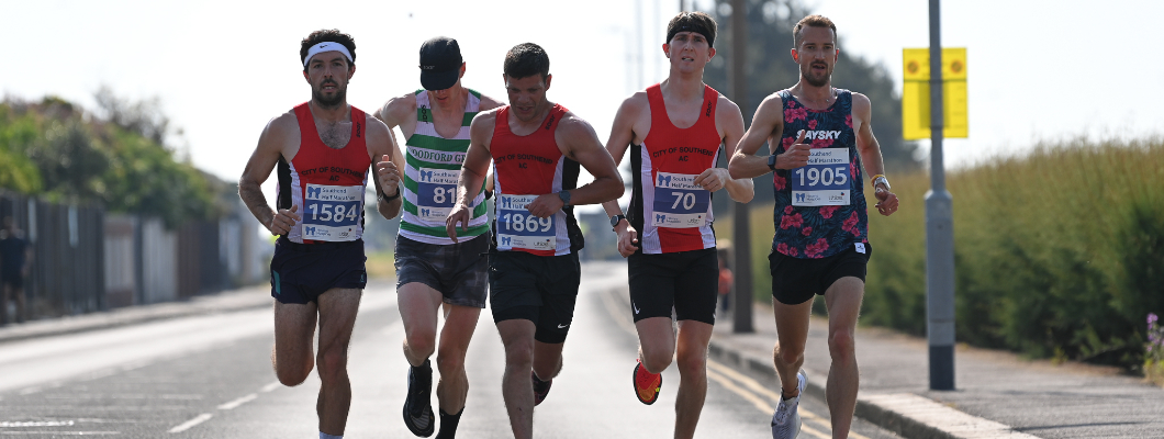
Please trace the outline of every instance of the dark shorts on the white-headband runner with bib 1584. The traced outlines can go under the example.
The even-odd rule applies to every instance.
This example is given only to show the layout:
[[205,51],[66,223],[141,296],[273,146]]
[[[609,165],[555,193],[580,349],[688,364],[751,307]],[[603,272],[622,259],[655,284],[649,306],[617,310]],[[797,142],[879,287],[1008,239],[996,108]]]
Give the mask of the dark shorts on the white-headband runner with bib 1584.
[[285,304],[317,302],[333,288],[363,289],[368,284],[363,240],[296,243],[275,242],[271,297]]

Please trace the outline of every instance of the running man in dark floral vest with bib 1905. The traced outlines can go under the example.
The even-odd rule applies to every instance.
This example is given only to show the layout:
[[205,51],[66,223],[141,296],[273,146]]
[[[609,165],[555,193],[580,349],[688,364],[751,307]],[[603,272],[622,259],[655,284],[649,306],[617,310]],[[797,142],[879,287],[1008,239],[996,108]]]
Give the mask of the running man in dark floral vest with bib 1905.
[[[778,439],[800,433],[796,408],[808,381],[801,366],[817,295],[829,310],[832,364],[825,395],[832,437],[849,437],[859,380],[857,317],[873,253],[863,163],[873,175],[878,211],[888,217],[897,210],[881,147],[870,128],[870,99],[832,87],[839,54],[832,21],[810,15],[796,23],[792,56],[800,64],[800,80],[760,104],[729,164],[732,177],[774,172],[776,233],[768,259],[779,332],[772,355],[782,395],[772,416],[772,437]],[[765,141],[772,155],[755,156]]]

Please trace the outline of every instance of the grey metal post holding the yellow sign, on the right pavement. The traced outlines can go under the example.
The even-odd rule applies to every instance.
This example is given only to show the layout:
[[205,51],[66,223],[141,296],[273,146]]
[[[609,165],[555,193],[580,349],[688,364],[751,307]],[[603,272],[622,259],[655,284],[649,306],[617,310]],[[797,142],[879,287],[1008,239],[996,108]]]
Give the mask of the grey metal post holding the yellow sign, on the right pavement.
[[942,14],[930,0],[930,191],[925,193],[925,332],[930,389],[953,390],[953,197],[942,160]]

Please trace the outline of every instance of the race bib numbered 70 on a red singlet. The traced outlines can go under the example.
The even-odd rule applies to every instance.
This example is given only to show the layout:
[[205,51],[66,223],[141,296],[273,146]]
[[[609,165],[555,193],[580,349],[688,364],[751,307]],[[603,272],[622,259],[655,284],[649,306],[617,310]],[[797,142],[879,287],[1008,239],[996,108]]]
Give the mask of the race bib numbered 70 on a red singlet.
[[655,175],[652,226],[688,228],[703,227],[708,224],[711,192],[691,183],[695,177],[698,176],[669,172]]

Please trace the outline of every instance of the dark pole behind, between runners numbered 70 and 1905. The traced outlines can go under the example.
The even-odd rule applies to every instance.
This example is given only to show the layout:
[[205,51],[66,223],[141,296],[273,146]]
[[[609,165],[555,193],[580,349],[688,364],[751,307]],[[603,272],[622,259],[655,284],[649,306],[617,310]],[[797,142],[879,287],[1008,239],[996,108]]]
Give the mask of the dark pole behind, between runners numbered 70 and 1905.
[[[744,0],[731,1],[731,94],[736,105],[747,108],[747,72],[744,70],[747,54],[747,6]],[[725,194],[726,196],[726,194]],[[732,203],[734,217],[732,252],[736,253],[736,271],[732,278],[732,332],[754,332],[752,328],[752,236],[748,227],[746,203]]]

